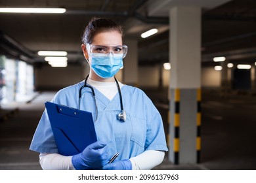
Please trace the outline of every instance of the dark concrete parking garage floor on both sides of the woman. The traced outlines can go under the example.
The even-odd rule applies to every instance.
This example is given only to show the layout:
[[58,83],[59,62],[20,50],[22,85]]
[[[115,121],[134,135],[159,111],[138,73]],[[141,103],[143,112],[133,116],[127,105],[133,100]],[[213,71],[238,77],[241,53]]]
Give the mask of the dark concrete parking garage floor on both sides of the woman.
[[[156,102],[163,121],[167,122],[167,90],[145,90]],[[36,152],[28,150],[33,133],[54,92],[38,93],[30,103],[2,106],[0,122],[0,169],[41,169]],[[202,95],[201,163],[173,165],[167,155],[154,169],[256,169],[256,97],[232,95],[221,97],[216,92]],[[165,124],[167,127],[167,124]]]

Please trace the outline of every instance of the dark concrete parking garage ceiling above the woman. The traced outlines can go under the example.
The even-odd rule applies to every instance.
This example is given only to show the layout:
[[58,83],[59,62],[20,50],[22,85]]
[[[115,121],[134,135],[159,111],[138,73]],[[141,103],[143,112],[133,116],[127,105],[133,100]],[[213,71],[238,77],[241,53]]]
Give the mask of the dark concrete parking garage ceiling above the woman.
[[[255,0],[1,0],[0,7],[64,7],[64,14],[0,13],[0,54],[43,63],[39,50],[65,50],[68,62],[84,61],[81,34],[92,16],[112,18],[123,25],[126,39],[137,39],[139,64],[156,65],[169,59],[169,10],[202,7],[202,63],[214,56],[230,61],[256,61]],[[158,34],[140,38],[156,27]]]

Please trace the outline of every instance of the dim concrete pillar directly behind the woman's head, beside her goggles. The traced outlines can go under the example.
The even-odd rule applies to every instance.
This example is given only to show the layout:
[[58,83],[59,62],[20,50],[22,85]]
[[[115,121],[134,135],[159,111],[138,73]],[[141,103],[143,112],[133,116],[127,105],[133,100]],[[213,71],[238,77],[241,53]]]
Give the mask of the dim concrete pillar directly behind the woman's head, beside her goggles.
[[137,40],[125,40],[128,46],[128,54],[123,60],[123,83],[131,86],[138,84],[138,44]]

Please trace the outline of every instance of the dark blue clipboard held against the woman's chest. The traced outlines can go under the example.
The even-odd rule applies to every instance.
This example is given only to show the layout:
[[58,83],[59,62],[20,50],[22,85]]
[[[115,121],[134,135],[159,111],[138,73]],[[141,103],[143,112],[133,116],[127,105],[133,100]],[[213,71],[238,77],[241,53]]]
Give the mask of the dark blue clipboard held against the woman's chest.
[[97,141],[91,112],[46,102],[58,153],[72,156]]

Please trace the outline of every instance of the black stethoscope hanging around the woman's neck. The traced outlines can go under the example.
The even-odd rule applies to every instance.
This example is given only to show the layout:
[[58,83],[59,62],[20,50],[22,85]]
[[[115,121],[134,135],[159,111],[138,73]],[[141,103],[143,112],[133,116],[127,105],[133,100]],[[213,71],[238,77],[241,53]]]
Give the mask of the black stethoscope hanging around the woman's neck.
[[[87,88],[90,88],[91,89],[91,92],[93,94],[93,98],[95,100],[95,106],[96,106],[96,118],[95,118],[95,122],[98,118],[98,107],[97,107],[97,104],[96,104],[96,98],[95,98],[95,90],[93,89],[92,86],[89,86],[87,85],[87,78],[89,77],[89,75],[87,75],[87,77],[85,78],[85,84],[83,86],[81,86],[81,88],[79,89],[79,109],[80,109],[80,104],[81,104],[81,97],[82,97],[82,90],[83,88],[87,87]],[[117,119],[120,120],[120,121],[123,121],[125,122],[126,120],[126,112],[125,110],[123,110],[123,99],[122,99],[122,95],[121,95],[121,90],[120,90],[120,86],[118,84],[118,81],[117,79],[115,78],[115,81],[116,81],[116,84],[117,84],[117,90],[118,90],[118,93],[119,93],[119,99],[120,99],[120,106],[121,106],[121,112],[119,112],[119,114],[117,114]]]

